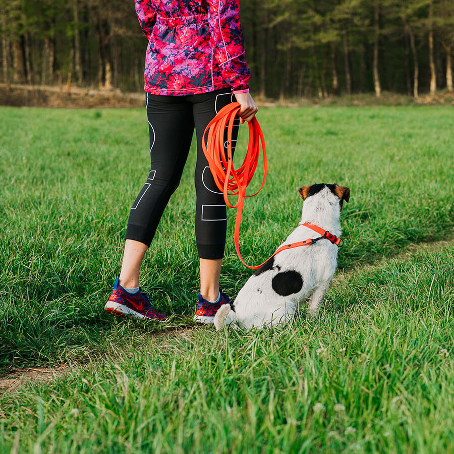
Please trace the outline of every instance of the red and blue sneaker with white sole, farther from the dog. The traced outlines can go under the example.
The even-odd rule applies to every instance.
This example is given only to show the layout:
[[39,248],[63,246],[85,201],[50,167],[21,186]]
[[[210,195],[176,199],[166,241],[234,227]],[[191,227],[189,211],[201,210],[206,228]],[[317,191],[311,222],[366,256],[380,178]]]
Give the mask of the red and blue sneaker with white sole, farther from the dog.
[[105,303],[104,310],[113,315],[133,315],[137,318],[149,318],[151,320],[164,321],[167,316],[159,314],[151,307],[150,297],[141,291],[128,293],[119,283],[115,281],[112,294]]

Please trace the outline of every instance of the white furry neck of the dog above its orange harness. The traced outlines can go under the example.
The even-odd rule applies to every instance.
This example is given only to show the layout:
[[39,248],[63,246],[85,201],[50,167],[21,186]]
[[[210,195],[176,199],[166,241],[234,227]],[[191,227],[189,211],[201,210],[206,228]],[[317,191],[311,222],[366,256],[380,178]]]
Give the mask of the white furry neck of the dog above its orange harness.
[[301,223],[310,222],[328,230],[333,235],[341,235],[339,204],[331,205],[322,197],[312,196],[305,200],[301,212]]

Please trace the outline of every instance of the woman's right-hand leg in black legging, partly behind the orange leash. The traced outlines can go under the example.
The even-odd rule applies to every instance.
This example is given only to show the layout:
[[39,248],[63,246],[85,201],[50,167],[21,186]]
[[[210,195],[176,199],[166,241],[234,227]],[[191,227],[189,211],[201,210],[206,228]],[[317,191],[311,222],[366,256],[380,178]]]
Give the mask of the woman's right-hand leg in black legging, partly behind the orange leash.
[[[194,103],[194,124],[197,133],[194,181],[197,194],[195,230],[200,259],[200,293],[203,299],[216,301],[219,295],[227,216],[223,195],[214,183],[201,143],[208,123],[223,106],[235,101],[235,95],[226,89],[194,95],[190,99]],[[239,125],[239,119],[237,122]],[[235,133],[238,133],[238,129]]]

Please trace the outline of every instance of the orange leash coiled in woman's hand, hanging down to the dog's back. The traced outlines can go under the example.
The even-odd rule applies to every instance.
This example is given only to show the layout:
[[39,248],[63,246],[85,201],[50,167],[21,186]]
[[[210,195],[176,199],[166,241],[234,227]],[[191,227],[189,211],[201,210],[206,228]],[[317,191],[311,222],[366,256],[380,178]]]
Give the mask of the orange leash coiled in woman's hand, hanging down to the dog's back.
[[[237,208],[237,217],[235,219],[235,249],[237,250],[238,257],[245,266],[250,269],[258,269],[258,266],[249,266],[243,260],[240,253],[240,223],[241,215],[243,213],[243,205],[245,197],[253,197],[257,195],[266,180],[266,148],[265,140],[263,138],[262,130],[257,119],[254,117],[252,121],[248,122],[249,127],[249,141],[246,156],[241,167],[236,169],[233,166],[233,149],[232,149],[232,131],[234,128],[234,120],[240,111],[240,104],[233,102],[222,107],[217,115],[208,123],[208,126],[203,133],[202,149],[205,157],[210,166],[211,174],[213,175],[214,182],[224,195],[225,204],[230,208]],[[225,127],[227,127],[227,140],[226,140],[226,153],[224,151],[225,142]],[[205,145],[205,137],[208,133],[207,144]],[[261,147],[260,147],[261,145]],[[263,178],[260,189],[251,195],[246,195],[246,189],[254,176],[255,170],[260,156],[260,148],[263,154]],[[229,195],[238,195],[238,200],[235,205],[229,201]]]

